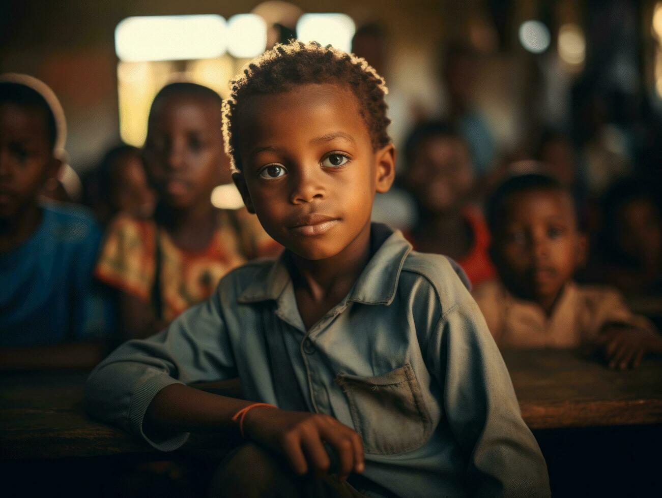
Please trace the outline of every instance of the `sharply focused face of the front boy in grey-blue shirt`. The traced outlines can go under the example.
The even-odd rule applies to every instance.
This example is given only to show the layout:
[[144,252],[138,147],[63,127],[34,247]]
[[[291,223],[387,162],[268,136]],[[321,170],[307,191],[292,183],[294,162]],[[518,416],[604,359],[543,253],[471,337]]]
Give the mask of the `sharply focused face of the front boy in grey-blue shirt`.
[[235,183],[267,233],[305,259],[363,239],[375,192],[393,182],[395,149],[373,151],[358,105],[339,85],[309,84],[250,97],[238,112]]

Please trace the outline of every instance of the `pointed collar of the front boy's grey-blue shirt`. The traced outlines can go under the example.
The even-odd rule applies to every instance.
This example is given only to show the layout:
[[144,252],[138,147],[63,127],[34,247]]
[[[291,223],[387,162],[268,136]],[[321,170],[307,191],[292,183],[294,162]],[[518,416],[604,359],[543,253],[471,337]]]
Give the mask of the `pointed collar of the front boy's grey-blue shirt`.
[[[370,237],[371,245],[378,249],[350,290],[348,301],[391,304],[397,292],[402,265],[412,246],[400,230],[394,231],[379,223],[371,225]],[[239,295],[238,302],[279,301],[292,282],[285,257],[285,253],[281,254],[271,267],[258,273],[248,288]]]

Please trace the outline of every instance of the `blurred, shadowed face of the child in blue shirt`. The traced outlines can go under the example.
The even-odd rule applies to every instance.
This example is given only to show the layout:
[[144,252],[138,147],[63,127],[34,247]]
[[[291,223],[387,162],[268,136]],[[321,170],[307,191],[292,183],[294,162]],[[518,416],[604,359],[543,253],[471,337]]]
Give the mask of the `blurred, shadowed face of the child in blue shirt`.
[[60,161],[48,142],[46,116],[39,108],[0,104],[0,220],[15,220],[38,196]]

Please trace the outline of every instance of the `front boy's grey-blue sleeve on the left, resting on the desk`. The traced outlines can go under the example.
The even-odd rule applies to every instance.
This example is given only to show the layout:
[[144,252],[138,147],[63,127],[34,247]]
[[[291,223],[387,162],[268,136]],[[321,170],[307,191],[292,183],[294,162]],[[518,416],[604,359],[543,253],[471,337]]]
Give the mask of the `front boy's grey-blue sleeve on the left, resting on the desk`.
[[118,347],[90,374],[85,404],[93,417],[122,427],[160,450],[174,450],[184,444],[187,433],[154,442],[142,431],[154,396],[170,384],[233,376],[234,356],[216,292],[182,313],[166,330]]

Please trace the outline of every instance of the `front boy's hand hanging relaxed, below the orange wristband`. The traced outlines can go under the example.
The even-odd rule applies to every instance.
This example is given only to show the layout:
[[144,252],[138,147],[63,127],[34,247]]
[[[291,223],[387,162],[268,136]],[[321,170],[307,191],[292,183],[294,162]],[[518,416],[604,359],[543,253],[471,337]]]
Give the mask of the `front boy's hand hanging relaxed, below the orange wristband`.
[[318,477],[328,472],[331,462],[325,442],[338,455],[340,479],[346,479],[351,472],[363,472],[365,466],[359,435],[330,415],[257,407],[246,414],[244,433],[287,456],[300,475],[308,470]]

